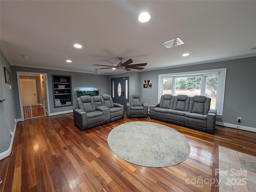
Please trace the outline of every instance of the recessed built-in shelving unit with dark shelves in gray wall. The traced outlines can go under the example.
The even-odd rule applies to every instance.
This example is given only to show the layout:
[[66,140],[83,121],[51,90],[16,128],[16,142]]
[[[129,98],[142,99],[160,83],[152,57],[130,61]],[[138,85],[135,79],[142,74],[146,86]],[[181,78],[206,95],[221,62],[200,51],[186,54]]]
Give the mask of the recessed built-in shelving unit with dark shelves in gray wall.
[[52,74],[52,88],[54,108],[73,105],[71,76]]

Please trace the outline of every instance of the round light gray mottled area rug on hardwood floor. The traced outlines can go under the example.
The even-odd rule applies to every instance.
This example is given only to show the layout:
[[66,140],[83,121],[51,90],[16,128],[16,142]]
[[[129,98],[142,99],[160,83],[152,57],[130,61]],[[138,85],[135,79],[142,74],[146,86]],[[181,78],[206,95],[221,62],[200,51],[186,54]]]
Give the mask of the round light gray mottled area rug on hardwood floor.
[[148,121],[118,125],[110,131],[108,145],[122,159],[145,167],[169,167],[190,155],[190,144],[184,135]]

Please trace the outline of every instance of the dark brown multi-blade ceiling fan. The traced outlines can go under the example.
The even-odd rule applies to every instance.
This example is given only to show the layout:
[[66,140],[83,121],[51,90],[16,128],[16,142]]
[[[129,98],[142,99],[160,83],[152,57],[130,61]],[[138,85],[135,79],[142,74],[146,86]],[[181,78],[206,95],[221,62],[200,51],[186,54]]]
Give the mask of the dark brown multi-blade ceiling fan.
[[144,69],[144,67],[142,66],[146,66],[148,63],[140,63],[140,64],[133,64],[133,65],[129,65],[131,64],[133,61],[132,59],[128,59],[126,62],[122,63],[123,58],[119,57],[118,58],[120,60],[120,63],[118,63],[117,65],[104,59],[105,61],[108,61],[109,63],[114,64],[115,66],[110,66],[110,65],[97,65],[97,64],[93,64],[93,65],[97,65],[97,66],[104,66],[105,68],[100,68],[100,69],[112,69],[112,68],[116,68],[116,70],[118,69],[124,69],[126,71],[131,71],[131,69]]

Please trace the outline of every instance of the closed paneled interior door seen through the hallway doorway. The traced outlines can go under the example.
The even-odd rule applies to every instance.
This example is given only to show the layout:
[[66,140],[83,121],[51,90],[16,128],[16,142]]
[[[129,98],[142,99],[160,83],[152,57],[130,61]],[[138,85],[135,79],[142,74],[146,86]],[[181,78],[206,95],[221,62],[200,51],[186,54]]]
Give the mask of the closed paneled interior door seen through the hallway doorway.
[[20,90],[22,103],[31,102],[32,106],[37,105],[35,79],[20,79]]

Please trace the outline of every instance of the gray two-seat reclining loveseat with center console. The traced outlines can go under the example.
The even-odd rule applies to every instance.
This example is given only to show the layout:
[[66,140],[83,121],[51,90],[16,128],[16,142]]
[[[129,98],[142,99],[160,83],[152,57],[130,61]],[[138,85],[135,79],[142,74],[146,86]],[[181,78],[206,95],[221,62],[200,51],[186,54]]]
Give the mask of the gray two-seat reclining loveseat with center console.
[[81,131],[124,118],[124,106],[113,103],[110,95],[80,96],[73,110],[74,124]]

